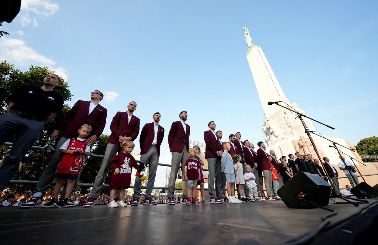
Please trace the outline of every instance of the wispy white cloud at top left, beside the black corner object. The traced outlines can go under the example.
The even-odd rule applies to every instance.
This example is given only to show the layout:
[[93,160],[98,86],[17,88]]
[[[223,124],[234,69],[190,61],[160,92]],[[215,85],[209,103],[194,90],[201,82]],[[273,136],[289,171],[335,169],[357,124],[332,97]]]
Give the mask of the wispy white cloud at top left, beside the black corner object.
[[17,19],[21,22],[22,27],[33,23],[34,27],[39,24],[35,16],[42,18],[49,17],[59,10],[59,5],[50,2],[50,0],[23,0],[21,10]]

